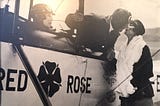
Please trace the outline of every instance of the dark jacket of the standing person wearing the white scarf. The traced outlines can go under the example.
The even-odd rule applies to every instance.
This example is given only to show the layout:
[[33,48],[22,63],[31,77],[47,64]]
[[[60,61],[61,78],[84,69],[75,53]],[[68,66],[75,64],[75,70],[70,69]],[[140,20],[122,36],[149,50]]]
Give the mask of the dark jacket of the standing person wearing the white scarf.
[[153,88],[149,81],[149,78],[153,77],[153,63],[148,46],[143,48],[140,60],[134,64],[132,76],[131,84],[138,89],[130,98],[137,100],[154,96]]

